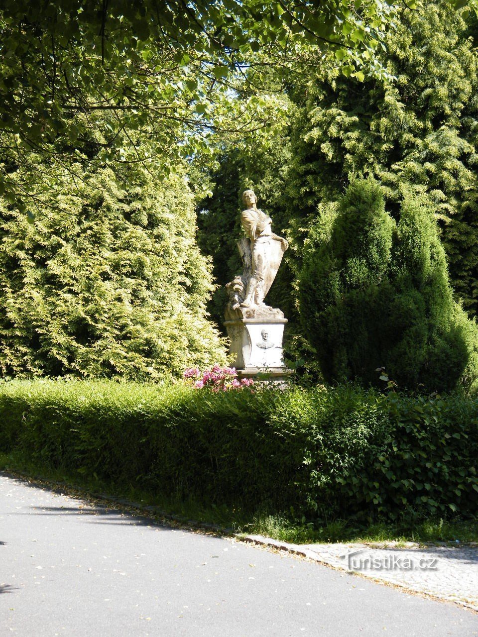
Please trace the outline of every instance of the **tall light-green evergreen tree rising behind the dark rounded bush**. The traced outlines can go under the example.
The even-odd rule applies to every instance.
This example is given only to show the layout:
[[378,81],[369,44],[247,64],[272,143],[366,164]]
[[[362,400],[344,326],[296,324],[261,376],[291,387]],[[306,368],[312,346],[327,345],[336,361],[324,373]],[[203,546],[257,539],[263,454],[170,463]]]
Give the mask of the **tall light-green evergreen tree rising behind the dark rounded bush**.
[[478,58],[467,29],[445,0],[419,4],[389,32],[382,59],[395,80],[360,83],[336,69],[310,82],[292,131],[289,210],[315,215],[357,174],[382,183],[397,218],[401,185],[425,192],[440,220],[456,297],[475,314]]

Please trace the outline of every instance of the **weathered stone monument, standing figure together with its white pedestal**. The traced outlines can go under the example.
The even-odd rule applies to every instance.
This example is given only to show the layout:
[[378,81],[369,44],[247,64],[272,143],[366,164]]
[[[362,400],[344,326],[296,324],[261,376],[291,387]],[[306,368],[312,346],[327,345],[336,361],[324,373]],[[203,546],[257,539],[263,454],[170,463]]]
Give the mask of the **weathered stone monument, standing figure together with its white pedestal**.
[[272,232],[272,219],[257,208],[252,190],[245,190],[242,200],[247,208],[241,213],[241,225],[247,236],[237,246],[243,270],[226,285],[229,302],[224,325],[231,341],[229,351],[236,357],[239,376],[254,378],[266,372],[282,387],[292,373],[282,353],[287,318],[279,308],[266,305],[264,298],[289,246]]

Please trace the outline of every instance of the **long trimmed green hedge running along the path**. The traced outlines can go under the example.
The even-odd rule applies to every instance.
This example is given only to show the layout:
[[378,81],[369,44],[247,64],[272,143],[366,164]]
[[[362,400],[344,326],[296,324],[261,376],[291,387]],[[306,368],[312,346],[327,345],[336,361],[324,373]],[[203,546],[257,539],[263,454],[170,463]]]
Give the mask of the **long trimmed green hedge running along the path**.
[[251,511],[478,512],[478,400],[458,394],[13,381],[0,384],[0,451]]

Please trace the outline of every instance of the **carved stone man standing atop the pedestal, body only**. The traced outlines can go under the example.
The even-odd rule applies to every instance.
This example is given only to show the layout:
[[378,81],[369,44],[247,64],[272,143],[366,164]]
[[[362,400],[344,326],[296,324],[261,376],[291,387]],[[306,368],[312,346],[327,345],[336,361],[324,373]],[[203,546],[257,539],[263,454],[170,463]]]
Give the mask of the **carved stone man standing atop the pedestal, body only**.
[[287,250],[289,244],[286,239],[272,232],[272,219],[257,208],[257,197],[253,190],[245,190],[242,201],[247,206],[247,209],[241,213],[241,225],[250,239],[252,275],[247,283],[245,299],[241,303],[241,307],[264,306],[266,292],[264,292],[263,283],[264,275],[270,267],[271,243],[272,241],[280,241],[282,250]]

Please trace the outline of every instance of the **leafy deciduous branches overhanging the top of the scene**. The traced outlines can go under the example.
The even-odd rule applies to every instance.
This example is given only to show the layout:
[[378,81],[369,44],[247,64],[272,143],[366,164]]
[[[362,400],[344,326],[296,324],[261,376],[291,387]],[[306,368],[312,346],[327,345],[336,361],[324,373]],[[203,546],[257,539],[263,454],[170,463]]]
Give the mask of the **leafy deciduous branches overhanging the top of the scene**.
[[[374,52],[404,7],[376,0],[3,4],[0,124],[15,136],[3,137],[3,147],[54,152],[59,138],[71,147],[88,140],[106,156],[120,130],[145,125],[164,152],[185,129],[250,131],[272,123],[277,99],[257,99],[249,84],[257,65],[294,68],[305,52],[333,48],[360,77],[380,73]],[[243,99],[231,99],[238,95]],[[96,138],[98,127],[104,140]],[[197,143],[187,136],[182,154]]]

